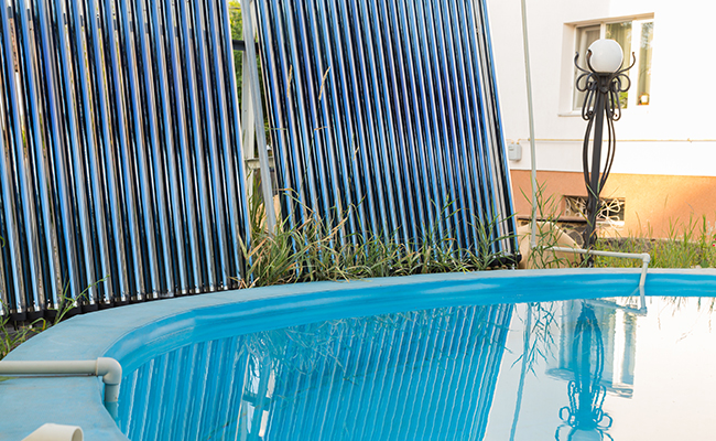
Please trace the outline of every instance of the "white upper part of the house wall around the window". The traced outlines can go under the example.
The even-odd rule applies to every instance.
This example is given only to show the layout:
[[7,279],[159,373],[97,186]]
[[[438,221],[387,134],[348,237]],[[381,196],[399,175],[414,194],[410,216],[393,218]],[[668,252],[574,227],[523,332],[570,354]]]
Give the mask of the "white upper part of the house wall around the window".
[[[531,166],[520,0],[487,0],[507,143]],[[574,23],[653,15],[651,103],[617,121],[612,172],[716,176],[716,3],[527,0],[538,169],[582,171],[586,122],[571,111]],[[638,35],[632,35],[632,39]],[[636,85],[632,86],[636,94]],[[572,114],[572,115],[569,115]]]

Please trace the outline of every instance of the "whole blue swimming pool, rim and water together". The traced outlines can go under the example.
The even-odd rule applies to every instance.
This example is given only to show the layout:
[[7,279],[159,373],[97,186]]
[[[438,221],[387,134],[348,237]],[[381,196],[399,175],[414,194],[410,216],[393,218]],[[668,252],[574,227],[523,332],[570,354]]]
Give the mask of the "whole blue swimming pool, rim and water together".
[[[716,273],[650,272],[644,316],[629,298],[638,279],[631,270],[417,276],[78,316],[13,358],[118,358],[118,426],[97,379],[14,379],[0,383],[0,411],[15,415],[0,434],[20,439],[42,422],[79,424],[88,440],[713,433],[716,381],[704,361],[716,346],[710,299],[697,298],[716,295]],[[607,299],[581,300],[597,297]],[[50,398],[33,399],[37,387]],[[23,402],[58,409],[55,420],[18,411]]]

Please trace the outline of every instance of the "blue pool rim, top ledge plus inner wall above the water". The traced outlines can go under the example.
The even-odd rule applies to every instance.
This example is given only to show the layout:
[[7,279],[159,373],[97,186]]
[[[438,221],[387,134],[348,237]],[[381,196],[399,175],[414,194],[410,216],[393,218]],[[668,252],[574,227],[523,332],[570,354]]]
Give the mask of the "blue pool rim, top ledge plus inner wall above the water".
[[[312,282],[182,297],[75,316],[34,336],[6,359],[112,356],[129,367],[124,368],[128,373],[185,342],[219,338],[227,333],[365,315],[360,313],[364,308],[370,308],[372,313],[435,308],[436,302],[444,302],[447,292],[455,304],[574,299],[582,291],[574,290],[577,279],[584,289],[628,295],[637,288],[639,273],[639,269],[500,270]],[[716,270],[650,270],[647,294],[654,287],[681,294],[690,286],[704,291],[705,281],[712,282],[705,292],[716,297]],[[420,293],[415,286],[420,286]],[[539,288],[550,292],[536,294],[534,289]],[[152,349],[148,352],[147,347]],[[95,377],[0,381],[0,439],[20,440],[43,423],[54,422],[82,427],[88,441],[128,440],[106,411],[101,390],[101,381]]]

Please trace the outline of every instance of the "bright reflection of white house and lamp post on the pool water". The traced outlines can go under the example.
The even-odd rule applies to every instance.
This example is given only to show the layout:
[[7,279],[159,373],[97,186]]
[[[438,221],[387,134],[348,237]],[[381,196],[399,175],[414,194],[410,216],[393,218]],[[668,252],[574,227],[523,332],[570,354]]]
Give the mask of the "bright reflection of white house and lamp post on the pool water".
[[516,305],[484,440],[713,439],[714,299],[648,304]]

